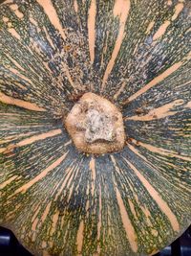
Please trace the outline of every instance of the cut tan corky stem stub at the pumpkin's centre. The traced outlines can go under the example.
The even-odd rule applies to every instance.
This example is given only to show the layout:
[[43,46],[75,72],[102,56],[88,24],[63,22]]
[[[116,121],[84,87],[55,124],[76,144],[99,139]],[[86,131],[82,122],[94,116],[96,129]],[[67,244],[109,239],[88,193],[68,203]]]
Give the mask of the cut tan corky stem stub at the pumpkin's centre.
[[87,153],[122,150],[125,133],[117,106],[94,93],[85,93],[65,120],[75,147]]

